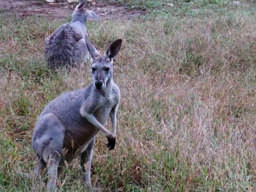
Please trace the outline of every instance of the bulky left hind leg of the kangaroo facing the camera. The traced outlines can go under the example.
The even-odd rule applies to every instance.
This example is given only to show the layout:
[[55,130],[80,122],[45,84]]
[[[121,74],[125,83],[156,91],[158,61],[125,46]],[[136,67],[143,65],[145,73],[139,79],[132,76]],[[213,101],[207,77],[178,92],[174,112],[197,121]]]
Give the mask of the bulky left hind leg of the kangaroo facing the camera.
[[37,158],[42,161],[37,165],[36,169],[42,169],[45,164],[48,164],[47,191],[56,191],[58,166],[62,154],[65,129],[59,122],[58,117],[54,114],[46,114],[37,122],[34,135],[33,148],[37,153]]

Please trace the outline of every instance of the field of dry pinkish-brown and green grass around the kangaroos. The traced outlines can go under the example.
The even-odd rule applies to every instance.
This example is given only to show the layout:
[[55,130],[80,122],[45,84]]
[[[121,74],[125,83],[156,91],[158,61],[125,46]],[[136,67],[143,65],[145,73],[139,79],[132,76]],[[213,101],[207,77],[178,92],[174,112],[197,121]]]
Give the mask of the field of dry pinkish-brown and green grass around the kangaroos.
[[[86,23],[101,53],[123,39],[114,62],[122,97],[116,148],[108,151],[105,136],[97,136],[92,185],[99,191],[255,191],[255,6],[118,2],[147,14]],[[52,99],[91,82],[87,64],[83,70],[46,67],[44,38],[67,18],[0,16],[0,191],[45,191],[44,180],[17,173],[36,163],[36,119]],[[58,191],[83,191],[78,164],[75,159],[59,176]]]

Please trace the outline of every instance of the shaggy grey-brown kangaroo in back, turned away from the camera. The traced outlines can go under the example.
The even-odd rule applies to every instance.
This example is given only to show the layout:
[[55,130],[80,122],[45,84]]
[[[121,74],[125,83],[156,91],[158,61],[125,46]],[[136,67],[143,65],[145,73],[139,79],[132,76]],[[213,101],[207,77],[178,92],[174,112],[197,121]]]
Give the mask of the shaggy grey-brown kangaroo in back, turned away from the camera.
[[72,21],[63,24],[45,38],[45,58],[51,68],[67,65],[81,68],[89,57],[85,45],[87,33],[84,23],[87,17],[99,19],[99,16],[93,11],[85,10],[83,6],[84,0],[81,0],[72,14]]

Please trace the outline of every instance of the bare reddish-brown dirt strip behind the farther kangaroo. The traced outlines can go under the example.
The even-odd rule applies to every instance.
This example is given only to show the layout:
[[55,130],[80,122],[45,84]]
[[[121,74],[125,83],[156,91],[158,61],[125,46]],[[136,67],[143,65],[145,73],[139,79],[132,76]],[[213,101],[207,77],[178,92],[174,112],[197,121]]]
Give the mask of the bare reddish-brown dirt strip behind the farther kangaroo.
[[[40,15],[50,19],[66,18],[73,13],[78,3],[68,3],[67,1],[57,1],[47,3],[35,0],[0,0],[0,14],[17,15],[18,17],[27,17]],[[100,15],[102,20],[108,19],[127,19],[143,15],[141,10],[129,10],[121,4],[103,4],[103,3],[86,3],[86,9],[92,10]]]

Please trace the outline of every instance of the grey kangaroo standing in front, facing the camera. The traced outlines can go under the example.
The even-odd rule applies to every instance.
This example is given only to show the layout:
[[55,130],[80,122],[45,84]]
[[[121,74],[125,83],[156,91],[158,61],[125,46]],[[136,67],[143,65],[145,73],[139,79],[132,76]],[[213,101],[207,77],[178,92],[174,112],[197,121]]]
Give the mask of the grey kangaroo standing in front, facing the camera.
[[[35,125],[32,146],[38,163],[34,172],[38,175],[48,165],[47,191],[56,190],[57,174],[64,161],[69,163],[77,156],[85,173],[85,188],[91,188],[92,151],[95,135],[100,131],[108,139],[109,150],[115,147],[120,91],[112,78],[113,58],[120,50],[122,39],[113,42],[104,55],[99,54],[87,37],[85,43],[91,54],[93,82],[84,89],[64,93],[52,100]],[[104,127],[108,116],[111,132]]]

